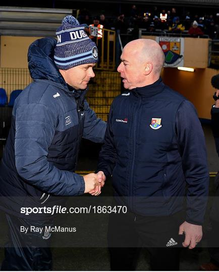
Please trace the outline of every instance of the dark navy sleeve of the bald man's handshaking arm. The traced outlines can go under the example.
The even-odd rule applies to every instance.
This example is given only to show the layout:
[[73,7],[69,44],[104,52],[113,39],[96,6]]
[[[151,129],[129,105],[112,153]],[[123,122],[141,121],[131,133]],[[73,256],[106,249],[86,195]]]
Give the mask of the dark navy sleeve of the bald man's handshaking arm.
[[99,160],[98,160],[98,165],[96,170],[96,172],[103,171],[105,176],[112,175],[113,169],[117,161],[117,152],[114,145],[114,135],[113,135],[113,129],[112,129],[112,121],[113,121],[112,116],[113,116],[113,104],[109,111],[104,144],[99,153]]

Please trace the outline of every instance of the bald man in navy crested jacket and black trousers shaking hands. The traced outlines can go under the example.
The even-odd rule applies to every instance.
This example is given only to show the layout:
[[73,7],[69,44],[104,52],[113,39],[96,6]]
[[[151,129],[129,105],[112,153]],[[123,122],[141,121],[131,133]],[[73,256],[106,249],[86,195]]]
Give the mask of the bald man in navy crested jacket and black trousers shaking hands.
[[112,270],[134,270],[142,246],[152,270],[179,270],[180,248],[192,249],[202,237],[204,135],[194,106],[163,84],[164,61],[155,41],[138,39],[124,47],[118,67],[127,91],[112,103],[97,168],[104,181],[113,175]]

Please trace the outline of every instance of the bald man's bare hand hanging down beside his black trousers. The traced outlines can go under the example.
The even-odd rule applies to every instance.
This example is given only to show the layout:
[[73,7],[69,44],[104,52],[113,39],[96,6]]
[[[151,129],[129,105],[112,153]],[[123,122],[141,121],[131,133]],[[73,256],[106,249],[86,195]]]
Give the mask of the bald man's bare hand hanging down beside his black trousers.
[[202,226],[193,225],[188,222],[184,222],[179,229],[179,234],[185,233],[185,241],[183,246],[189,246],[189,249],[193,249],[202,238]]

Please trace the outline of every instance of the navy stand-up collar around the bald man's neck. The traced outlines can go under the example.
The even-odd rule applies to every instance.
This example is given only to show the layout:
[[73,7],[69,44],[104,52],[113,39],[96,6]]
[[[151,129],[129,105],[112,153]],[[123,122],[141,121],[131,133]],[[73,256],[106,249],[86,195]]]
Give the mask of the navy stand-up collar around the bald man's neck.
[[149,98],[151,96],[161,93],[164,88],[165,84],[163,84],[162,79],[159,78],[157,81],[150,85],[133,89],[132,93],[137,97],[141,96]]

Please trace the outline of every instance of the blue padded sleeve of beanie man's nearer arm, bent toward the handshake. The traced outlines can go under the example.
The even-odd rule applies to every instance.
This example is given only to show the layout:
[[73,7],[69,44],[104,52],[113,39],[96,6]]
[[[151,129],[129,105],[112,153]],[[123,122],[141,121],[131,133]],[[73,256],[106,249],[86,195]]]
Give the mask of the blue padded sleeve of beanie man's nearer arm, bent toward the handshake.
[[43,104],[22,105],[16,110],[15,162],[18,174],[31,185],[54,195],[84,193],[82,176],[59,170],[47,161],[56,115]]

